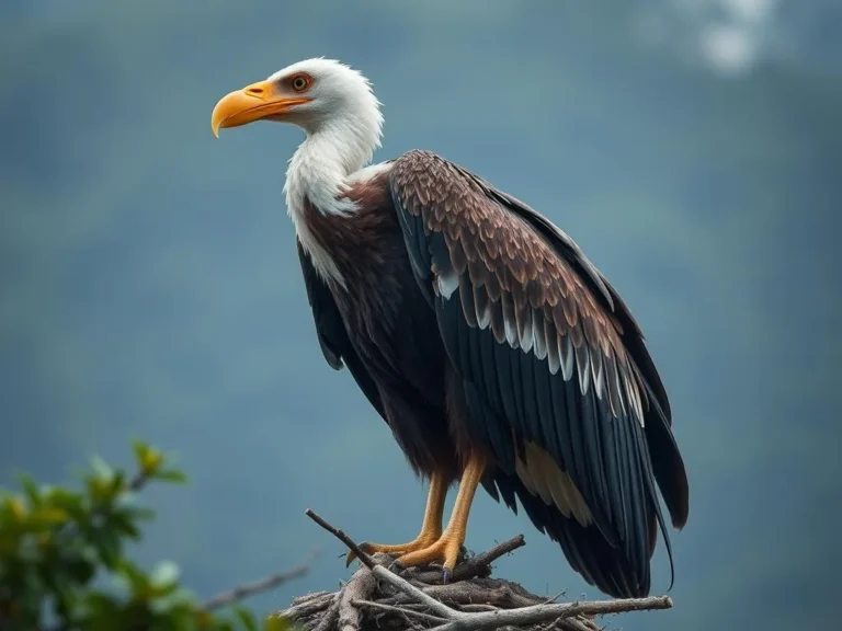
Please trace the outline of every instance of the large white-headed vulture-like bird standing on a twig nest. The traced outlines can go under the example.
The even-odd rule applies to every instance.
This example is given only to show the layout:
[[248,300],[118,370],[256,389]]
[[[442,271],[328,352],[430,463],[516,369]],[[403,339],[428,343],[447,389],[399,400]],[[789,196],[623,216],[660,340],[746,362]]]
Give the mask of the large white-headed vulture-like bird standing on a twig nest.
[[452,580],[481,486],[617,598],[649,594],[660,530],[672,588],[658,494],[681,530],[690,491],[670,402],[638,322],[572,238],[432,151],[373,163],[382,103],[341,61],[226,94],[212,130],[259,121],[304,130],[283,195],[320,351],[429,482],[414,539],[361,548]]

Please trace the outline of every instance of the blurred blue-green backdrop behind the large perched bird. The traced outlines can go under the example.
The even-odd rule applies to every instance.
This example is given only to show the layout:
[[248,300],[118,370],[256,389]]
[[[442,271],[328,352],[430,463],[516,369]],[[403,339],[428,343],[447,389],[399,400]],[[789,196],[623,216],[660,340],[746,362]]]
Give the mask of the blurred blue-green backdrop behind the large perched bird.
[[[827,627],[842,582],[842,2],[2,0],[0,484],[69,483],[139,437],[192,482],[138,549],[203,596],[322,555],[259,597],[414,537],[425,489],[321,356],[281,193],[301,135],[214,139],[217,99],[303,58],[385,103],[376,159],[426,148],[568,231],[644,325],[691,475],[675,608],[636,630]],[[834,272],[835,269],[835,272]],[[451,498],[452,502],[452,498]],[[599,594],[480,494],[497,572]],[[667,589],[662,548],[653,592]],[[834,616],[837,617],[837,616]]]

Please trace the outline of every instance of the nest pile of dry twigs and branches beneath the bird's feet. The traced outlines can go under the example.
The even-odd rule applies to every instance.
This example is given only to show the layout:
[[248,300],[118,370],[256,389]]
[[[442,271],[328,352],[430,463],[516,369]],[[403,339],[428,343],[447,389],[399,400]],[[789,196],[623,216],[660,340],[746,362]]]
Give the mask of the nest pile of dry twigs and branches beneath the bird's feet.
[[492,578],[491,563],[524,546],[523,536],[460,560],[446,585],[441,567],[395,573],[391,557],[368,555],[312,510],[307,515],[352,550],[362,565],[339,590],[298,597],[276,613],[306,631],[599,631],[598,616],[672,607],[667,596],[556,603],[511,581]]

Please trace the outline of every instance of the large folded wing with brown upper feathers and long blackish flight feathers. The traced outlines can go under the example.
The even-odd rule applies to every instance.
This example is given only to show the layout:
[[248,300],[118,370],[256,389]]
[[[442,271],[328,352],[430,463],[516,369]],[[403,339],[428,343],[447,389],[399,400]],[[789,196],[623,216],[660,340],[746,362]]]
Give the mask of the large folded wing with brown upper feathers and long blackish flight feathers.
[[[497,460],[497,489],[487,490],[512,507],[520,496],[602,590],[648,593],[657,521],[669,550],[656,477],[667,481],[662,491],[675,490],[664,500],[676,525],[687,493],[674,440],[653,443],[645,429],[658,423],[659,436],[672,437],[660,380],[644,378],[624,343],[632,334],[642,347],[639,330],[624,333],[630,314],[615,311],[616,292],[560,230],[455,164],[409,152],[390,188],[417,280],[463,380],[465,431]],[[661,475],[653,445],[674,450],[655,455],[670,463]]]

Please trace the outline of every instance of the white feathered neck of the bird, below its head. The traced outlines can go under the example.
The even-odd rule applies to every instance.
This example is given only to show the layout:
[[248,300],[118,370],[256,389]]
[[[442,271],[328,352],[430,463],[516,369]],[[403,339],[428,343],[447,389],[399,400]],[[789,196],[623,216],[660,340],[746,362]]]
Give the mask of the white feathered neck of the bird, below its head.
[[309,202],[314,210],[325,215],[346,216],[357,210],[356,203],[343,194],[379,146],[379,112],[375,108],[367,118],[334,117],[305,127],[307,138],[289,160],[284,184],[287,211],[316,272],[341,285],[344,282],[335,263],[307,226],[305,208]]

